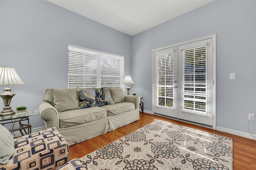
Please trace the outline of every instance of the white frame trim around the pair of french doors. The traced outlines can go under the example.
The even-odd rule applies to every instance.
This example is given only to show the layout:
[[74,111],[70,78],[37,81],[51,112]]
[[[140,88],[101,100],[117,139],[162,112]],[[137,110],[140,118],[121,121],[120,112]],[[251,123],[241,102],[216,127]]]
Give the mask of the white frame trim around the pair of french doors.
[[[202,40],[206,40],[206,39],[210,39],[212,38],[212,78],[213,78],[213,103],[212,103],[212,127],[208,127],[208,126],[204,126],[204,125],[201,125],[201,124],[197,124],[197,123],[193,123],[193,122],[189,122],[189,121],[183,121],[183,120],[179,120],[179,121],[183,121],[183,122],[188,122],[188,123],[191,123],[191,124],[194,124],[194,125],[199,125],[199,126],[202,126],[202,127],[207,127],[207,128],[212,128],[214,130],[216,130],[216,34],[212,34],[210,36],[205,36],[205,37],[201,37],[201,38],[196,38],[194,40],[189,40],[189,41],[186,41],[186,42],[181,42],[181,43],[176,43],[176,44],[173,44],[173,45],[168,45],[168,46],[165,46],[165,47],[160,47],[160,48],[156,48],[156,49],[152,49],[152,114],[154,114],[154,52],[155,51],[159,51],[159,50],[164,50],[164,49],[167,49],[167,48],[170,48],[170,47],[175,47],[175,46],[179,46],[179,45],[184,45],[184,44],[187,44],[187,43],[193,43],[193,42],[197,42],[197,41],[202,41]],[[164,116],[164,115],[163,115]],[[165,116],[164,116],[165,117]],[[171,118],[169,117],[170,119],[174,119],[174,118]]]

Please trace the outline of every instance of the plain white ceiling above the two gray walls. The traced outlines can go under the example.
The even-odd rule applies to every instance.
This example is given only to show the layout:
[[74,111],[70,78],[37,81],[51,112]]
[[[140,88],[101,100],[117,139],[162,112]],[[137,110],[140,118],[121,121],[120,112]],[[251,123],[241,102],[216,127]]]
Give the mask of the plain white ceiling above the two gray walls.
[[48,0],[133,36],[213,0]]

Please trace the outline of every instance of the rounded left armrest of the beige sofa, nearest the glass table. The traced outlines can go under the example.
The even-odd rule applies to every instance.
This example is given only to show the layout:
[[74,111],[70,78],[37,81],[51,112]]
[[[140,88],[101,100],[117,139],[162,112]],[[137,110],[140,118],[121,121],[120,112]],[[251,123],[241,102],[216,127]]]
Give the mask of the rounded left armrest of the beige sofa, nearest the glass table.
[[45,128],[56,127],[57,129],[60,129],[59,113],[50,103],[42,103],[39,106],[38,111],[41,118],[44,120]]

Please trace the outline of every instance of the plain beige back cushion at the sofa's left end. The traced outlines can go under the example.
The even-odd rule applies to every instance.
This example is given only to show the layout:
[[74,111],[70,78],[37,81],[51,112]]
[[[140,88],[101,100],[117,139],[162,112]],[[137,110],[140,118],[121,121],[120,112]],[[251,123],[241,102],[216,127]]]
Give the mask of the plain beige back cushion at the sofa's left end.
[[58,112],[79,108],[78,95],[74,89],[52,89],[54,107]]

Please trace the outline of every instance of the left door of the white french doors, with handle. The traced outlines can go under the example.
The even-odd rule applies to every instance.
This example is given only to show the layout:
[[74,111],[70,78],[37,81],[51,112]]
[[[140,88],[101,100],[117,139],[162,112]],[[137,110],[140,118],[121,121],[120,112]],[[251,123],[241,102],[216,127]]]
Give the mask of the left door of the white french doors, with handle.
[[155,51],[154,113],[178,117],[178,47]]

